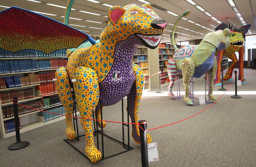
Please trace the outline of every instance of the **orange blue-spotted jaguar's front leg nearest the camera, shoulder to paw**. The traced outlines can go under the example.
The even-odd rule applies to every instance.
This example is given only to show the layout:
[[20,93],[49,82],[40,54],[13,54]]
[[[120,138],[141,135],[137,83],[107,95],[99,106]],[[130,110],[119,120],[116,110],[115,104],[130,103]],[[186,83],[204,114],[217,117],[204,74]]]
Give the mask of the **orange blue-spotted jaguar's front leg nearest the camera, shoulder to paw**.
[[83,118],[81,123],[86,139],[85,154],[92,163],[96,163],[100,161],[102,154],[94,145],[92,121],[89,119],[92,117],[93,108],[96,107],[100,99],[98,75],[92,69],[79,67],[76,69],[73,79],[76,79],[74,90],[78,111]]

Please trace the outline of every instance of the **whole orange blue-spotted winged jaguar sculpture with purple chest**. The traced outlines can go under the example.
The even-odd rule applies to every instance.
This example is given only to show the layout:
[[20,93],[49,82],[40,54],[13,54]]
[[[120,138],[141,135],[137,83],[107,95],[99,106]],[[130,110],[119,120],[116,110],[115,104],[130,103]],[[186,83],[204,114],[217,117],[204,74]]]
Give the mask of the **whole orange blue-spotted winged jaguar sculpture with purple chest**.
[[[71,9],[72,2],[68,2],[67,9]],[[69,13],[70,11],[66,11],[66,21]],[[89,35],[68,25],[31,11],[12,7],[0,13],[0,33],[3,32],[0,34],[1,48],[12,52],[36,49],[44,53],[76,48],[68,50],[67,69],[58,69],[55,72],[55,80],[66,115],[72,115],[73,110],[70,80],[74,85],[78,110],[84,118],[81,123],[86,137],[85,154],[92,163],[102,157],[94,145],[92,123],[88,120],[92,116],[93,108],[96,107],[97,119],[100,119],[99,100],[103,106],[108,106],[127,96],[128,113],[132,123],[139,122],[144,74],[138,65],[132,63],[132,57],[138,45],[156,48],[167,24],[157,16],[149,4],[130,4],[123,8],[113,6],[108,11],[108,19],[106,28],[100,34],[100,40],[95,41]],[[13,21],[19,28],[15,29],[9,24]],[[17,33],[10,33],[10,29]],[[8,34],[4,35],[5,33]],[[17,39],[17,34],[22,36]],[[31,38],[30,34],[33,34]],[[24,42],[22,37],[25,38]],[[79,38],[76,40],[76,37]],[[83,41],[85,42],[82,43]],[[70,117],[66,117],[66,123],[68,139],[74,139],[76,133]],[[102,126],[105,127],[106,123],[103,122]],[[138,125],[132,125],[132,137],[136,143],[140,143]],[[147,142],[151,140],[151,135],[147,134]]]

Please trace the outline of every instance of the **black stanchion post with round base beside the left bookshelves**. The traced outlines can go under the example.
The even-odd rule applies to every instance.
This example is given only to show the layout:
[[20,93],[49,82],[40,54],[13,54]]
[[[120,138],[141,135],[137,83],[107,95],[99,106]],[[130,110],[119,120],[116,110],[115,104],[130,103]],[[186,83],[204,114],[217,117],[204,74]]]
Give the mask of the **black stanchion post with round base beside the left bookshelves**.
[[[14,97],[13,101],[18,103],[18,98]],[[19,126],[19,113],[18,113],[18,105],[13,103],[13,110],[14,110],[14,122],[15,122],[15,133],[16,133],[16,142],[11,144],[8,149],[9,150],[18,150],[23,149],[29,145],[29,142],[20,141],[20,126]]]

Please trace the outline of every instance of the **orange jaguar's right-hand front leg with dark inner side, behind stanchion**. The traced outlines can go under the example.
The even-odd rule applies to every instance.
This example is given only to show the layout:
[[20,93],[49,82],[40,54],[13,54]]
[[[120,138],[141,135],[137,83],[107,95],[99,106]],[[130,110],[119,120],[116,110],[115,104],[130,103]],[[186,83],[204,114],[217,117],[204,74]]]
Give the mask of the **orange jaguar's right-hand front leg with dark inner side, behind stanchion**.
[[[142,94],[142,89],[144,85],[144,74],[140,69],[140,66],[137,64],[132,64],[133,71],[136,76],[136,80],[132,85],[132,89],[127,96],[128,98],[128,113],[131,117],[132,123],[139,122],[139,105],[140,99]],[[139,133],[139,126],[132,125],[132,138],[138,144],[140,144],[140,133]],[[147,142],[150,143],[152,141],[152,137],[150,134],[147,134]]]

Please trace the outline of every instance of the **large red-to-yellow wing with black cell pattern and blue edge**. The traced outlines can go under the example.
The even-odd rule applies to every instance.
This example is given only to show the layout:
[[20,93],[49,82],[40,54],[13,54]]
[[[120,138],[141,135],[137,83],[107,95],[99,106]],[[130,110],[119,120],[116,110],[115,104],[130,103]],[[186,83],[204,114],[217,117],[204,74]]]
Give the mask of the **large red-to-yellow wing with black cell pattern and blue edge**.
[[0,12],[0,48],[11,52],[35,49],[49,54],[85,40],[95,43],[86,33],[32,11],[14,6]]

